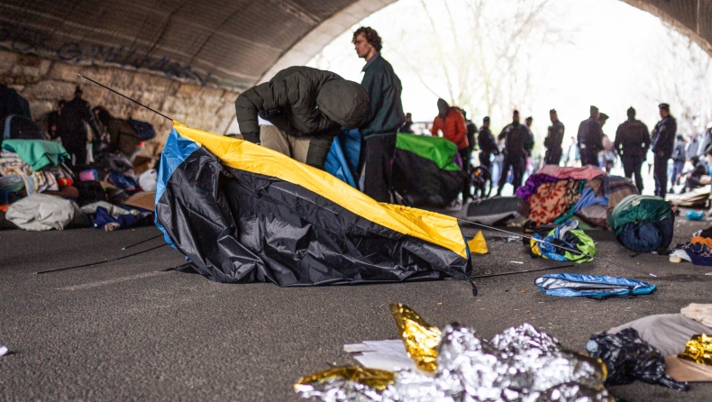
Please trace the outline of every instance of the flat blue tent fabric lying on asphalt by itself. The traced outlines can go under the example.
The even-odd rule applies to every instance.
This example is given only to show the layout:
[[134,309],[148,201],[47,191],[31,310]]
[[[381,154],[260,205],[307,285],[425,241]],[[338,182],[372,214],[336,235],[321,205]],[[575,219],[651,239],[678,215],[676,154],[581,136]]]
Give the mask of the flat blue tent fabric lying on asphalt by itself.
[[649,295],[657,289],[635,279],[611,277],[606,275],[547,274],[534,280],[537,286],[548,296],[556,297],[625,297]]

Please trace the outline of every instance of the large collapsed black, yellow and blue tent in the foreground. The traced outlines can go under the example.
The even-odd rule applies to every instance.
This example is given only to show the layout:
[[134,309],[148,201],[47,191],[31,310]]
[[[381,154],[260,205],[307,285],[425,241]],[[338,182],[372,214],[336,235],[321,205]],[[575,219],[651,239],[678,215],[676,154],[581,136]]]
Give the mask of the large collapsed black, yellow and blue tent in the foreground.
[[454,218],[377,203],[323,170],[180,123],[162,152],[155,211],[167,242],[218,282],[470,280]]

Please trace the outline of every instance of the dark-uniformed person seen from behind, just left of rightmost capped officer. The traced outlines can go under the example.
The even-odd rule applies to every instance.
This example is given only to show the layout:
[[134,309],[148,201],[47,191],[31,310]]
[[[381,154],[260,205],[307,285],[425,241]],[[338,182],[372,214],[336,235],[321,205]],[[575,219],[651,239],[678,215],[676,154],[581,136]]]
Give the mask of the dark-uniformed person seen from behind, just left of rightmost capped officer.
[[635,177],[635,187],[638,187],[638,192],[643,194],[643,177],[640,170],[645,161],[645,154],[650,148],[650,134],[643,122],[635,120],[633,106],[628,109],[627,114],[628,120],[621,123],[616,130],[616,142],[613,143],[613,148],[621,157],[625,177]]

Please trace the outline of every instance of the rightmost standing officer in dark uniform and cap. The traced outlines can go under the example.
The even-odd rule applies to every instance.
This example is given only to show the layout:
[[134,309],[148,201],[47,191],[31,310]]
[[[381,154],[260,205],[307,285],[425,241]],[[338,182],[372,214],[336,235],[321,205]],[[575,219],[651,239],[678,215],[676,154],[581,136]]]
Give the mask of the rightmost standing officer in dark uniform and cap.
[[665,198],[668,187],[668,160],[672,157],[678,123],[670,115],[670,105],[660,104],[658,109],[660,109],[662,120],[655,124],[653,129],[653,145],[651,147],[654,155],[653,177],[655,178],[655,195]]

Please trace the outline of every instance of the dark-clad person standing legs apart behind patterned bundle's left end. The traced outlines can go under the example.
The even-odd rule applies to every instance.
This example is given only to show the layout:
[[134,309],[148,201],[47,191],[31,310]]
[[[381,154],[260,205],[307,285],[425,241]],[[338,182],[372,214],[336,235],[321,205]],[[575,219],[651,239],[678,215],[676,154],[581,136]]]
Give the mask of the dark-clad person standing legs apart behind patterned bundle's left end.
[[502,167],[502,174],[499,176],[499,186],[497,196],[502,196],[502,188],[507,183],[507,172],[512,168],[514,179],[512,186],[516,189],[522,186],[522,177],[525,172],[526,158],[532,151],[531,132],[525,125],[519,123],[519,111],[512,114],[512,123],[508,124],[497,136],[499,140],[505,140],[505,161]]

